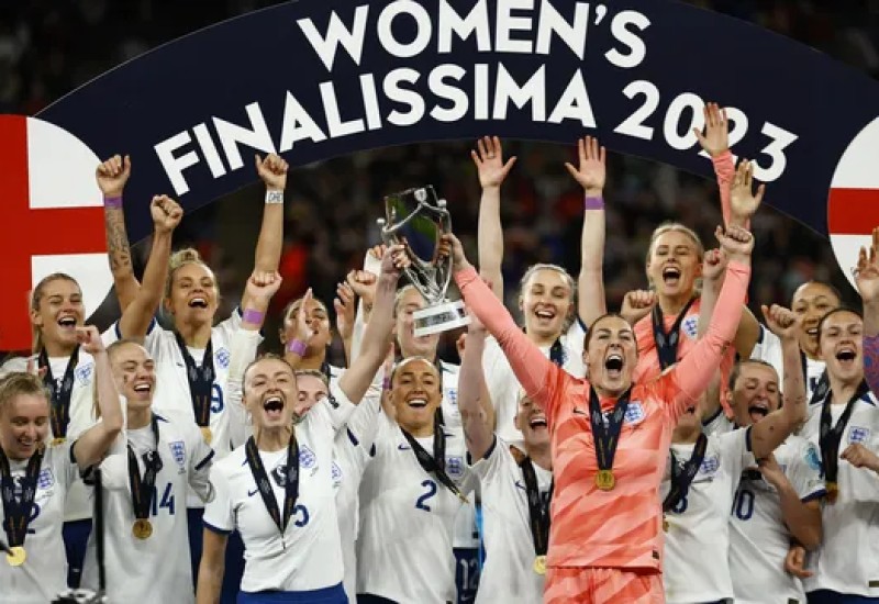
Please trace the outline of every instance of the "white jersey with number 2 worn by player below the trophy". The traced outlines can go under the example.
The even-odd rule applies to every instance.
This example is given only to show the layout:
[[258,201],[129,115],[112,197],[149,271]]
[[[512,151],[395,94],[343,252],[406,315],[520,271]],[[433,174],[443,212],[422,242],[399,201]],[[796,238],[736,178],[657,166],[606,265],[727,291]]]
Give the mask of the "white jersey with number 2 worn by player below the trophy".
[[[419,443],[433,454],[433,437]],[[394,602],[455,601],[453,528],[460,500],[422,469],[383,413],[374,452],[360,482],[357,593]],[[466,492],[472,479],[464,456],[464,440],[447,433],[446,473]]]

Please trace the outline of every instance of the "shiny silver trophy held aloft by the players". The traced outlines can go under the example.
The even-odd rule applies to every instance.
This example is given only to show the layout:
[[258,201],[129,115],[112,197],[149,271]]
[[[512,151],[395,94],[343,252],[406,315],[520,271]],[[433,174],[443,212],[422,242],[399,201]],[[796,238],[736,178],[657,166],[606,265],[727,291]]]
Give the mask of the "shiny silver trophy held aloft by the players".
[[385,198],[386,219],[379,219],[381,238],[403,245],[412,264],[403,272],[427,305],[412,314],[415,337],[447,332],[470,323],[464,302],[446,298],[452,280],[452,258],[439,255],[441,237],[452,232],[446,200],[430,184]]

